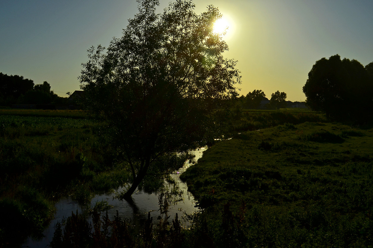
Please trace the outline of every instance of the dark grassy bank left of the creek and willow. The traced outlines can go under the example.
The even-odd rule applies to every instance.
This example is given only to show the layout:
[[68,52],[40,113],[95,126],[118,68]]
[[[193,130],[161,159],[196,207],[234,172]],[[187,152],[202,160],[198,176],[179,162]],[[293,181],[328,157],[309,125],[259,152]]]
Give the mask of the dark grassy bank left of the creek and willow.
[[0,110],[0,246],[39,235],[60,196],[84,205],[126,181],[103,131],[83,111]]

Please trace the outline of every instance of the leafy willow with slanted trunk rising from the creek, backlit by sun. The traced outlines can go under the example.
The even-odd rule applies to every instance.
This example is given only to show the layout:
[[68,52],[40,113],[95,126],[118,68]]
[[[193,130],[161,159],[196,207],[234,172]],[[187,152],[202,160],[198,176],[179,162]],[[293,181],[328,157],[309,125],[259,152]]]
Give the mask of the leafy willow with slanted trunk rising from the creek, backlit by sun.
[[[226,42],[212,31],[221,14],[213,6],[197,15],[192,1],[138,1],[139,13],[110,46],[88,50],[79,76],[90,113],[108,123],[128,162],[132,186],[172,152],[204,144],[222,104],[238,96],[236,61],[225,59]],[[166,172],[166,171],[164,171]]]

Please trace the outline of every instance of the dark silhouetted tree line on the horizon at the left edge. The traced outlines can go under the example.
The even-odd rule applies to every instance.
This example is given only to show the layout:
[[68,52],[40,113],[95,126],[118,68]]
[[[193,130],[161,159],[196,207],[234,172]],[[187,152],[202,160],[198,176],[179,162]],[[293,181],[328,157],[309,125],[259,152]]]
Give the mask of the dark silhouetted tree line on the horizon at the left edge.
[[23,76],[0,73],[0,105],[11,104],[67,104],[67,98],[50,90],[50,84],[34,84]]

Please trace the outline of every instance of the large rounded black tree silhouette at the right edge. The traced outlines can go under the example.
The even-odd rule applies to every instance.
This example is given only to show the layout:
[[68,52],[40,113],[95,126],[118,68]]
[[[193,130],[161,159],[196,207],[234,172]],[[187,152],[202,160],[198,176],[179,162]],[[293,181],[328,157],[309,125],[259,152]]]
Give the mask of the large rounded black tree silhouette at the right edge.
[[363,122],[372,118],[373,64],[364,66],[355,59],[336,54],[313,65],[303,86],[306,103],[337,120]]

